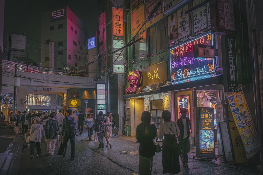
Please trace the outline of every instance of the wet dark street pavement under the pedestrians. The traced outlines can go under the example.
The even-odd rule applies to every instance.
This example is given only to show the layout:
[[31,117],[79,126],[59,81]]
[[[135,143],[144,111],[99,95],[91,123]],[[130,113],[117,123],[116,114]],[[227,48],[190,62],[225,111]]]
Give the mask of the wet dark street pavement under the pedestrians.
[[[50,156],[46,151],[44,138],[41,142],[41,156],[30,158],[30,148],[24,142],[22,135],[2,135],[0,137],[2,148],[0,150],[0,175],[6,174],[139,174],[138,143],[135,137],[112,136],[112,148],[99,149],[99,142],[87,141],[87,129],[83,134],[75,137],[75,159],[70,160],[70,145],[67,146],[65,157],[58,156],[56,145],[55,155]],[[7,142],[11,144],[7,147]],[[62,139],[60,139],[60,142]],[[104,138],[104,145],[106,140]],[[4,148],[7,147],[7,148]],[[203,160],[193,158],[195,150],[189,152],[189,167],[180,164],[180,174],[259,174],[256,166],[234,166],[224,163],[221,156],[215,159]],[[153,158],[152,174],[162,173],[161,152]]]

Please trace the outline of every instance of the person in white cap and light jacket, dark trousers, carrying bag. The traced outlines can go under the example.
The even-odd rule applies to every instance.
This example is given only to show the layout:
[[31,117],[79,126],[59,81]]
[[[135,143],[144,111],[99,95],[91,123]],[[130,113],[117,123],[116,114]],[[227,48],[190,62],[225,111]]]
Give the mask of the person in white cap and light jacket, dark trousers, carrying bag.
[[40,124],[41,119],[36,117],[34,120],[34,124],[31,126],[30,129],[30,154],[31,158],[34,158],[34,151],[35,146],[37,145],[37,156],[40,156],[41,149],[40,149],[40,142],[42,136],[45,135],[44,127]]

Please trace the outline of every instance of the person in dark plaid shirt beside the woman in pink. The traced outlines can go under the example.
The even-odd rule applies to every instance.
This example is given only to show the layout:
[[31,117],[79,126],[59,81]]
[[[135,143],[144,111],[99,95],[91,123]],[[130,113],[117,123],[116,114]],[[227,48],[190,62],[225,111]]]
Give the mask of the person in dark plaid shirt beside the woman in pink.
[[105,125],[102,125],[101,122],[105,123],[106,119],[102,116],[103,112],[99,112],[99,116],[95,119],[95,134],[98,134],[99,148],[103,149],[103,137],[105,132]]

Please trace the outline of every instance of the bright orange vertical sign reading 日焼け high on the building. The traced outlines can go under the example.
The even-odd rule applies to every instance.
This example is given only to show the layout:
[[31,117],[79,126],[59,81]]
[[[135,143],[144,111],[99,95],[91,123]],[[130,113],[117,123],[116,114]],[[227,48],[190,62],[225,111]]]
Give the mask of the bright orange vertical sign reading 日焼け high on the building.
[[112,35],[124,36],[123,9],[112,8]]

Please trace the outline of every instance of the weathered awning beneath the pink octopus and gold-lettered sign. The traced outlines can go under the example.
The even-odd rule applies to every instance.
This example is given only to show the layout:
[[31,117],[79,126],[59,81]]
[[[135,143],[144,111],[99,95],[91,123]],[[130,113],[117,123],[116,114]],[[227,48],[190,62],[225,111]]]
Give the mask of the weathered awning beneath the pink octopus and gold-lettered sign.
[[151,95],[156,94],[158,92],[158,88],[169,85],[169,81],[163,82],[163,83],[157,83],[157,84],[151,84],[148,86],[138,87],[136,93],[134,94],[126,94],[123,96],[123,98],[131,98],[131,97],[140,97],[145,95]]

